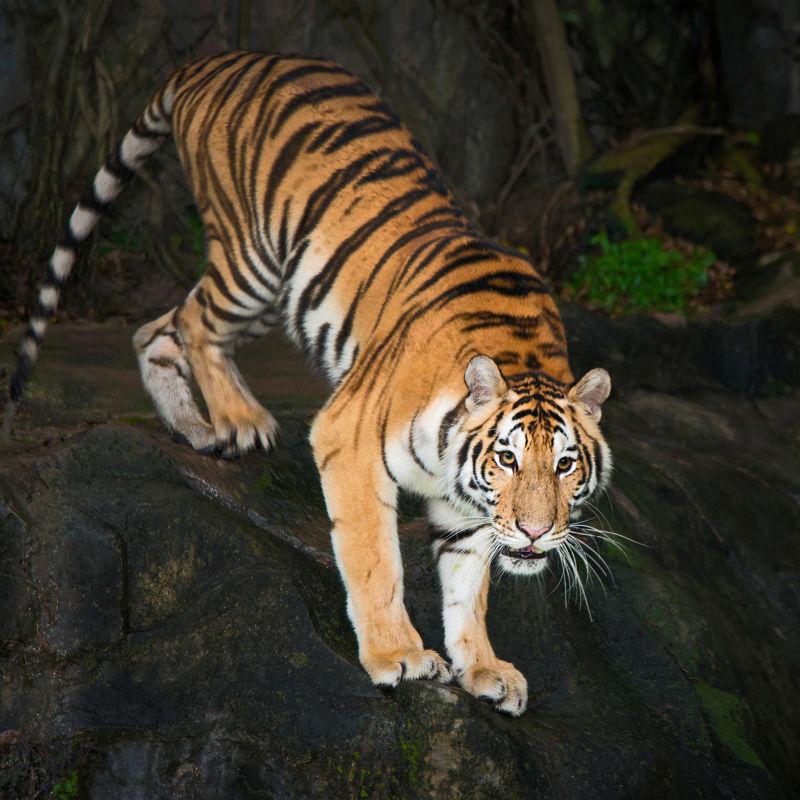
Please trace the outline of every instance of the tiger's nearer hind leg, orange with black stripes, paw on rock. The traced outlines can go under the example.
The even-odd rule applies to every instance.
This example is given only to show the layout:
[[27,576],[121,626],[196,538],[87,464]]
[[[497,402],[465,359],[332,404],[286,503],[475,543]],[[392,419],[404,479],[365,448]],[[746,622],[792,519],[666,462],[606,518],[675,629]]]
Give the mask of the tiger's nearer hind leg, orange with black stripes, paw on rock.
[[267,450],[278,425],[247,388],[233,352],[247,330],[271,309],[274,297],[267,296],[264,287],[261,294],[244,291],[231,278],[235,268],[228,265],[216,240],[209,242],[208,262],[206,274],[178,310],[178,334],[222,455],[241,455],[258,445]]

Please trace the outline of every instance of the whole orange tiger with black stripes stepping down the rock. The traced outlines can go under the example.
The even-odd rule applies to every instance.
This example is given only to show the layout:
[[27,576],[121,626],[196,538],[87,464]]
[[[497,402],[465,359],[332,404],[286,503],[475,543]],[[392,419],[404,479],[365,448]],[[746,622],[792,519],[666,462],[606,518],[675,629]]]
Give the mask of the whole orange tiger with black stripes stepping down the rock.
[[[342,66],[229,52],[166,81],[52,253],[6,431],[80,246],[170,134],[207,264],[180,305],[133,336],[157,414],[201,453],[269,450],[276,420],[234,355],[282,325],[332,386],[310,443],[361,665],[376,686],[455,680],[519,716],[526,678],[486,627],[491,570],[541,574],[607,485],[610,378],[574,379],[532,261],[480,233],[410,130]],[[447,658],[424,646],[404,601],[401,490],[427,503]]]

